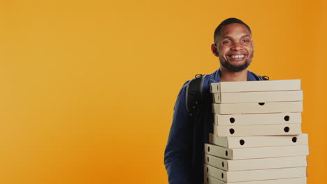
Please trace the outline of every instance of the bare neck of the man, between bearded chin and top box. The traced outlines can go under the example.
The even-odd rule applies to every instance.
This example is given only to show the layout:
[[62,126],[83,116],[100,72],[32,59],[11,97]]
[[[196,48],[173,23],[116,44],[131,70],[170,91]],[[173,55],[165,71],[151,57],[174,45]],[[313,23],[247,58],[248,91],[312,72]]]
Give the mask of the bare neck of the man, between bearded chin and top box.
[[240,72],[231,72],[230,70],[221,67],[220,81],[221,82],[247,81],[247,68]]

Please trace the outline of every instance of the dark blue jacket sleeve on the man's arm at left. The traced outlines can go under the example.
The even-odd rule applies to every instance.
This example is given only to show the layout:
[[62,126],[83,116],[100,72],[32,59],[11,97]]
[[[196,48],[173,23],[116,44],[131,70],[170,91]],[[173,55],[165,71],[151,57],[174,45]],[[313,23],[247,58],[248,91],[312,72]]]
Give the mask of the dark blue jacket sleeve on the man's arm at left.
[[186,86],[175,102],[173,123],[164,155],[170,184],[189,184],[191,181],[191,122],[185,104]]

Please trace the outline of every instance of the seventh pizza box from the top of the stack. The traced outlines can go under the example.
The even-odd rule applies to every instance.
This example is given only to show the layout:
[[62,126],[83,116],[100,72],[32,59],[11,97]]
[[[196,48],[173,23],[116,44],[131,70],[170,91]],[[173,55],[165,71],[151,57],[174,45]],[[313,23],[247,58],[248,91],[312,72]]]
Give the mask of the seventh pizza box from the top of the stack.
[[205,153],[230,160],[292,157],[309,155],[309,146],[296,145],[257,148],[224,148],[212,144],[205,144]]

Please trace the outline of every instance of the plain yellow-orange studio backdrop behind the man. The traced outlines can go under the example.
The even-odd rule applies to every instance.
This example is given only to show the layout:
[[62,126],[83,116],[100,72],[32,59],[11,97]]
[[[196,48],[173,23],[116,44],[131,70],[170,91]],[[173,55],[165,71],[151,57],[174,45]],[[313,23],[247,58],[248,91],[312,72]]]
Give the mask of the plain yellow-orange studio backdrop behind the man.
[[252,28],[249,70],[302,79],[308,183],[327,183],[326,1],[0,1],[0,183],[168,183],[175,98]]

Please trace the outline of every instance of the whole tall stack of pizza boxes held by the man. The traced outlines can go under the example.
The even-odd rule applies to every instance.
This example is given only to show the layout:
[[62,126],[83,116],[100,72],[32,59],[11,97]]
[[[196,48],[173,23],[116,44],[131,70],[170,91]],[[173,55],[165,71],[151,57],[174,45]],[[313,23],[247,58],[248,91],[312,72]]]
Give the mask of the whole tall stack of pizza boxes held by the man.
[[205,144],[204,183],[305,184],[299,79],[211,84],[215,116]]

